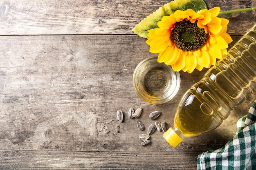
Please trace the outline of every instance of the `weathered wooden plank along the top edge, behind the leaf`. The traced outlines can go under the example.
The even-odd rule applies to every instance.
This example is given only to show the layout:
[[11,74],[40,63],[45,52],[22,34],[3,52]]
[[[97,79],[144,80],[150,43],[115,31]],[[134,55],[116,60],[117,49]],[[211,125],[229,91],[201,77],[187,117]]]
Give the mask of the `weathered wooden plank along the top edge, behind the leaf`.
[[[132,28],[168,0],[2,0],[0,35],[132,34]],[[254,0],[212,1],[222,11],[255,7]],[[256,23],[256,11],[229,17],[228,32],[243,35]]]

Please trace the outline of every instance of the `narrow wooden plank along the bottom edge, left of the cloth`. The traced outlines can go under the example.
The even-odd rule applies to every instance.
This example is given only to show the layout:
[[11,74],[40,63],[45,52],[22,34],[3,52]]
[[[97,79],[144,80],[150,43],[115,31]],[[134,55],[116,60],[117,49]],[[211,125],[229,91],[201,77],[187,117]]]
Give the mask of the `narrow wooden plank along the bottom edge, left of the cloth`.
[[198,152],[0,151],[0,168],[1,170],[196,170],[198,154]]

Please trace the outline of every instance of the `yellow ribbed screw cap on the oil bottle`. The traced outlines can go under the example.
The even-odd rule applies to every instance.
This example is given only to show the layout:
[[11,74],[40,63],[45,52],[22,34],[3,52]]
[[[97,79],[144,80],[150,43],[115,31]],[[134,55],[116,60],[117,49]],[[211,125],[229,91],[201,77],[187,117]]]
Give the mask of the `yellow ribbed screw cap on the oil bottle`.
[[169,128],[163,135],[164,139],[168,141],[168,143],[175,148],[180,142],[182,142],[182,138],[173,130],[173,128]]

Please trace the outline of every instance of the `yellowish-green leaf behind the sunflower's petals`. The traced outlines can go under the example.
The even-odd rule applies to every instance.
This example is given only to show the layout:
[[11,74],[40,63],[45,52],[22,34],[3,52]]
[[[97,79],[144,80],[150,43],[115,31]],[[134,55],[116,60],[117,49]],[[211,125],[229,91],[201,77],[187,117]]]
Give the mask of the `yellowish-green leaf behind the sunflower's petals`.
[[148,38],[148,30],[157,28],[157,22],[162,20],[163,16],[169,16],[177,10],[186,11],[187,9],[200,11],[201,9],[207,9],[207,6],[204,0],[174,0],[148,15],[132,31],[143,38]]

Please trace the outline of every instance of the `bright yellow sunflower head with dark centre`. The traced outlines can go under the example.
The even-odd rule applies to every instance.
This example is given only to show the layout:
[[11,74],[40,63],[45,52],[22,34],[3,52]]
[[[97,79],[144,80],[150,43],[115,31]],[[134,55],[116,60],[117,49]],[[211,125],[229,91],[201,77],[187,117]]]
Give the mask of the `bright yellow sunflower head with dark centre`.
[[191,73],[216,64],[232,42],[227,34],[229,20],[218,18],[219,7],[198,12],[177,10],[164,16],[158,28],[148,30],[150,52],[159,53],[158,62],[171,65],[174,71]]

